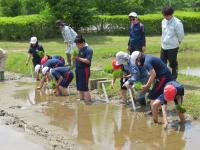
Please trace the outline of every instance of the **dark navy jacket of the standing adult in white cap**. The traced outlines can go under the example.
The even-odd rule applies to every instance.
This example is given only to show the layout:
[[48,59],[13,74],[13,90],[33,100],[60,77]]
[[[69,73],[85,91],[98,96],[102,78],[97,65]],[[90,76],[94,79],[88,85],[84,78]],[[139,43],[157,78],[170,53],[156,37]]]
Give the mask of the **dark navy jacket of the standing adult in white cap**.
[[146,45],[144,25],[140,22],[137,24],[132,24],[129,32],[130,37],[128,47],[136,50],[141,50],[142,47]]

